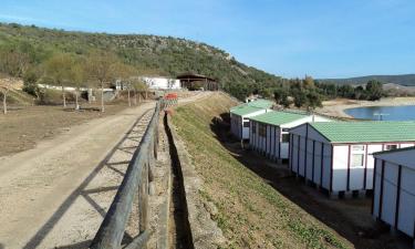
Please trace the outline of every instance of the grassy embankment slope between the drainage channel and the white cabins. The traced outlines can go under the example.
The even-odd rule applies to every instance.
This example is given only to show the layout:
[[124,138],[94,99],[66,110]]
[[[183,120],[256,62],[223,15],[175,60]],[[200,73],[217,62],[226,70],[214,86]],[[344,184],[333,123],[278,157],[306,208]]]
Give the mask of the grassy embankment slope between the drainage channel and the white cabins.
[[211,120],[235,104],[218,93],[178,107],[173,117],[204,179],[200,195],[218,207],[214,218],[229,240],[228,248],[352,247],[246,168],[216,139]]

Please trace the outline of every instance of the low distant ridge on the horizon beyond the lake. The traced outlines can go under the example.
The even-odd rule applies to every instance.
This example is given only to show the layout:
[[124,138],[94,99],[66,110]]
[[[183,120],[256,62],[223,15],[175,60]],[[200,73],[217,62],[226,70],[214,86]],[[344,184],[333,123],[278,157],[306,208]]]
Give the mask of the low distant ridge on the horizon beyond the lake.
[[351,84],[362,85],[367,83],[370,80],[377,80],[385,84],[393,83],[398,85],[415,86],[415,74],[402,74],[402,75],[369,75],[361,77],[349,77],[349,79],[321,79],[321,82],[331,82],[335,84]]

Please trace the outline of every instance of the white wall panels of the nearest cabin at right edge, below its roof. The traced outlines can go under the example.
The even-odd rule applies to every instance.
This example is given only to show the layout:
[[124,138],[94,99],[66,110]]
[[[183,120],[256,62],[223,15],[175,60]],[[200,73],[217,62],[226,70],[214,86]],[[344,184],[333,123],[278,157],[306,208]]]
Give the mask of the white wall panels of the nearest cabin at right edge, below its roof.
[[[413,160],[407,160],[407,163],[413,164]],[[382,174],[383,164],[384,170]],[[401,166],[400,189],[397,188],[398,169],[400,166],[397,164],[380,158],[376,159],[372,214],[375,218],[395,226],[398,230],[413,237],[415,229],[415,169],[405,165]],[[397,200],[398,195],[400,199]],[[396,212],[398,212],[398,216],[395,222]]]

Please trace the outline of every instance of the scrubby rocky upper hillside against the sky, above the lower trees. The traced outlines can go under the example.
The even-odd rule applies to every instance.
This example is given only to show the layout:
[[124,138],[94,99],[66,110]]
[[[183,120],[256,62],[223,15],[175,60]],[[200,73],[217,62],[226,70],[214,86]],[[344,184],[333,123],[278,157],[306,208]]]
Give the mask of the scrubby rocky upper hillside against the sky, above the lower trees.
[[206,74],[240,98],[261,89],[261,84],[280,82],[280,77],[245,65],[220,49],[172,37],[66,32],[0,23],[0,50],[4,48],[30,54],[33,64],[42,63],[56,51],[75,54],[113,51],[125,63],[136,66],[141,74]]

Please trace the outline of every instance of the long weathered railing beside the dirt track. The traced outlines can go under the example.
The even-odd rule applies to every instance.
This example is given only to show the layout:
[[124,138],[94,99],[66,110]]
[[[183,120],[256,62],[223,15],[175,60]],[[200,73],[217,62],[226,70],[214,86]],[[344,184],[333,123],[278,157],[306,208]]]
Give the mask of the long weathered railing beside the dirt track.
[[148,183],[153,180],[152,166],[157,158],[158,120],[162,108],[158,102],[147,129],[128,164],[125,177],[116,193],[90,248],[118,249],[123,241],[134,198],[138,191],[139,234],[125,248],[145,248],[151,237],[148,230]]

